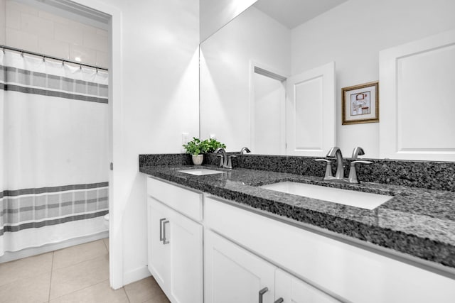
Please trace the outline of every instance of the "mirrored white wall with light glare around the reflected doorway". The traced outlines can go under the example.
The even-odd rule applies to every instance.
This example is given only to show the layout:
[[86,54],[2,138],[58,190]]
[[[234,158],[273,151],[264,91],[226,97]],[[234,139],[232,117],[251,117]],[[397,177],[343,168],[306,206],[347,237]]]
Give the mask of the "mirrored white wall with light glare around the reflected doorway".
[[[201,44],[200,136],[250,146],[250,61],[286,77],[291,31],[255,7]],[[254,151],[253,151],[254,152]]]

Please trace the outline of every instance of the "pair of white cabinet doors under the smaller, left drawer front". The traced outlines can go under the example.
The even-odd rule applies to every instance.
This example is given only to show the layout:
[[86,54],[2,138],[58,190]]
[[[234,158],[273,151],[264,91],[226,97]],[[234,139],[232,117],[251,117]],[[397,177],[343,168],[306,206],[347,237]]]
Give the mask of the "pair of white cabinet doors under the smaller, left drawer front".
[[151,194],[147,202],[148,268],[171,302],[203,302],[203,226]]

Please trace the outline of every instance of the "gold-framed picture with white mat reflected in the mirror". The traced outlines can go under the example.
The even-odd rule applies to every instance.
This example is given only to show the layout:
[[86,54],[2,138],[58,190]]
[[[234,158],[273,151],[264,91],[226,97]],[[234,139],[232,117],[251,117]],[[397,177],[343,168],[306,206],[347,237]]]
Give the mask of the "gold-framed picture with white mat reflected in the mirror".
[[341,89],[342,124],[379,122],[379,82]]

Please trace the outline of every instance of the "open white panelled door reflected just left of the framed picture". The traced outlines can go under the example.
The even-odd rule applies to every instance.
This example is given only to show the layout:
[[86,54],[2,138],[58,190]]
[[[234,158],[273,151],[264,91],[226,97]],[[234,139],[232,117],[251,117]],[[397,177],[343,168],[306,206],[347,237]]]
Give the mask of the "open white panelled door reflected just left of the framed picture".
[[335,62],[287,79],[287,155],[326,155],[335,145]]

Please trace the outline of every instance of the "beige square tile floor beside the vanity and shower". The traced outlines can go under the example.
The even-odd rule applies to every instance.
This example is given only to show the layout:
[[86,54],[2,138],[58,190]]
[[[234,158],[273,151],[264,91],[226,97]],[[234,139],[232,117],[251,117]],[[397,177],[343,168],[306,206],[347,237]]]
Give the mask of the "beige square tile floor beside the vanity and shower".
[[108,239],[0,264],[0,302],[169,302],[153,277],[109,287]]

